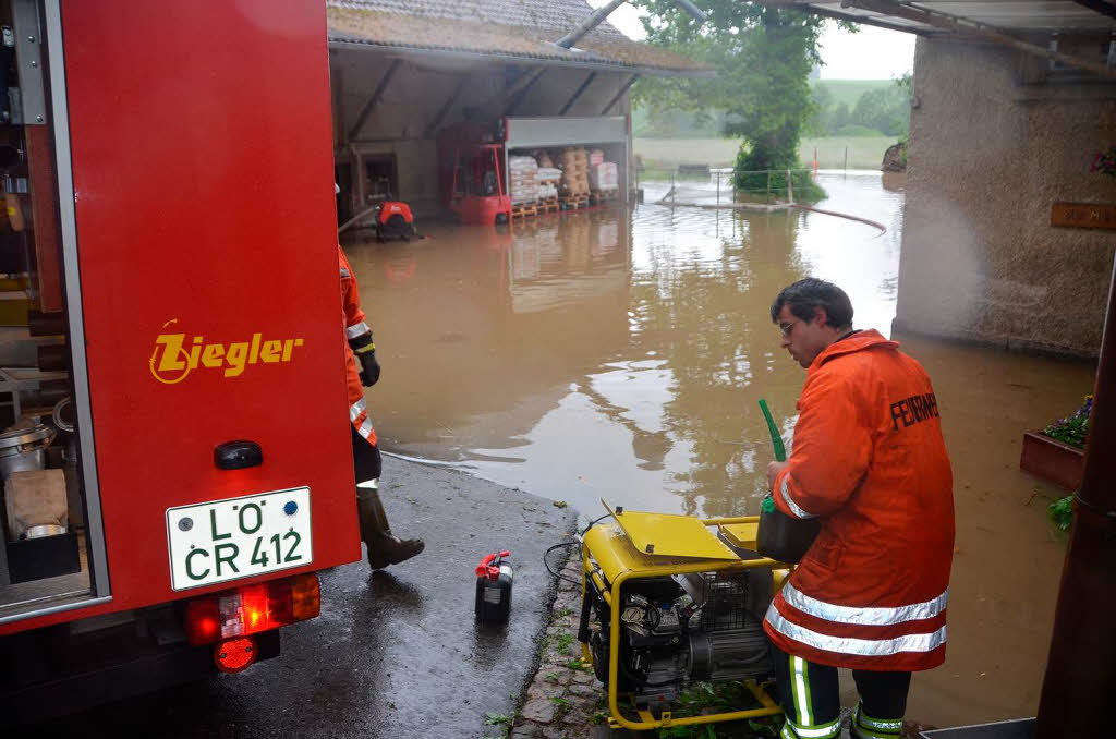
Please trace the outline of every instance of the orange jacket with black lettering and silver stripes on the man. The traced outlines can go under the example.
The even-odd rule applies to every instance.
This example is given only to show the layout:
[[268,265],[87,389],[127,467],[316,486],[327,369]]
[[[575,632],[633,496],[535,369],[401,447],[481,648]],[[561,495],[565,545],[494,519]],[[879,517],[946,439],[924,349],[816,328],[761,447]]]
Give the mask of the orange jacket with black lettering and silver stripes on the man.
[[776,506],[821,518],[763,624],[779,649],[860,670],[945,659],[953,474],[922,366],[878,332],[821,352],[798,401]]

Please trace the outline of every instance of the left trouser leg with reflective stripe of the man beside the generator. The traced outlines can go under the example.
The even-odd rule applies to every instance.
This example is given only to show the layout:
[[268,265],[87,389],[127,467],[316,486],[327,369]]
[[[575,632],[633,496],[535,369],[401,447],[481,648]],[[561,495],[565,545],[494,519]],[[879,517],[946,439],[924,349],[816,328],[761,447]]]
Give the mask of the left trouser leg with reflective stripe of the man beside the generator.
[[840,736],[840,693],[837,668],[807,662],[771,650],[779,701],[787,721],[781,739],[834,739]]

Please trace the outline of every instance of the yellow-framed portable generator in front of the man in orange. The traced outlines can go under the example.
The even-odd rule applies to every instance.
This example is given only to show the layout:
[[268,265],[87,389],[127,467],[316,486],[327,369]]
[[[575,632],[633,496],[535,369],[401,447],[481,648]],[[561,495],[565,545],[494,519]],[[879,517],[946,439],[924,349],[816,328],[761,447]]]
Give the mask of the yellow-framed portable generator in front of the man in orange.
[[[608,691],[609,726],[644,731],[781,713],[768,693],[775,668],[762,622],[789,569],[754,551],[759,517],[608,511],[610,521],[581,537],[578,640],[583,663]],[[754,702],[672,716],[691,684],[727,681],[740,681]]]

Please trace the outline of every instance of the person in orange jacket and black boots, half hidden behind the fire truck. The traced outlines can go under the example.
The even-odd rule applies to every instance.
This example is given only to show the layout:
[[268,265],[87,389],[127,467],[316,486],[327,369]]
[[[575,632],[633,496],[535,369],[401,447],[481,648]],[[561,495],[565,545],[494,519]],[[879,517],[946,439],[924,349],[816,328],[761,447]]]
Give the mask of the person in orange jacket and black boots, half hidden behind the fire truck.
[[376,430],[368,418],[364,388],[379,380],[376,344],[372,328],[360,309],[360,295],[356,277],[340,246],[337,247],[341,279],[341,326],[348,345],[345,348],[345,375],[348,390],[349,422],[353,435],[353,462],[356,471],[357,512],[360,518],[360,539],[368,547],[368,565],[382,569],[423,550],[421,539],[398,539],[392,535],[387,515],[379,501],[381,455]]

